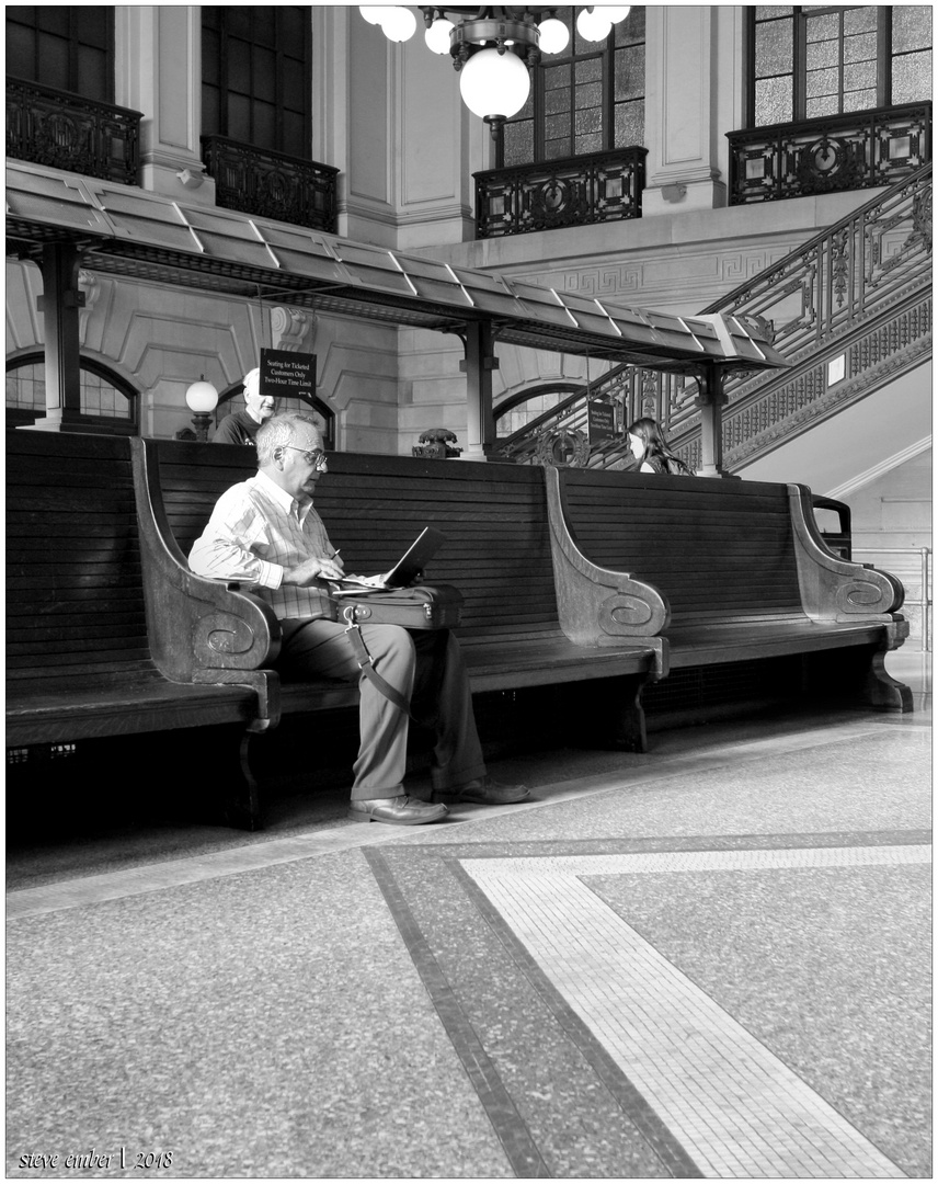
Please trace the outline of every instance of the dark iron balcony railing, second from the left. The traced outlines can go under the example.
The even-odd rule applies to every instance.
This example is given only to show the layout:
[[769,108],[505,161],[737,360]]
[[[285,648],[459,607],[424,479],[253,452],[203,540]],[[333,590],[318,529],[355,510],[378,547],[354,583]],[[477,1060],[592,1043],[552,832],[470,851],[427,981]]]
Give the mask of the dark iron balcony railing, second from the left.
[[202,136],[202,160],[226,210],[336,231],[338,169],[227,136]]

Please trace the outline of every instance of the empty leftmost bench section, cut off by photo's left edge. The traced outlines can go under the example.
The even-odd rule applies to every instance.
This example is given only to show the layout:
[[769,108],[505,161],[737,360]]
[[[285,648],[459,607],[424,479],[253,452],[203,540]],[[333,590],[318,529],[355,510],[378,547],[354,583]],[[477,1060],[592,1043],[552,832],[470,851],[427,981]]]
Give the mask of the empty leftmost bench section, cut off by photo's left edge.
[[125,438],[7,432],[6,641],[7,748],[252,716],[150,654]]

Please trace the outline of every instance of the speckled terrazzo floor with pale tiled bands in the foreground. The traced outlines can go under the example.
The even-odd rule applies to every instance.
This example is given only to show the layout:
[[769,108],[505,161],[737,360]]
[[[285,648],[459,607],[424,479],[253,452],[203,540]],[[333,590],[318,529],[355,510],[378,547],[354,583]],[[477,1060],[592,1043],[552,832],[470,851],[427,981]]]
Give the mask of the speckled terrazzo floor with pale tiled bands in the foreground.
[[[226,984],[226,1003],[227,992],[233,991],[235,999],[242,996],[251,1004],[233,1021],[232,1040],[240,1038],[242,1028],[264,1027],[264,1016],[252,1010],[258,976],[287,1002],[293,1000],[296,989],[297,1000],[304,1002],[295,1003],[295,1010],[277,995],[267,997],[261,1009],[266,1014],[272,1008],[276,1024],[289,1034],[284,1043],[290,1064],[278,1058],[266,1080],[260,1072],[265,1041],[244,1053],[250,1076],[244,1098],[266,1090],[279,1107],[271,1113],[302,1117],[302,1156],[287,1163],[287,1175],[358,1175],[348,1170],[355,1165],[366,1176],[394,1176],[401,1173],[390,1165],[405,1162],[409,1167],[405,1175],[429,1175],[426,1166],[419,1166],[421,1152],[408,1137],[409,1124],[418,1115],[429,1115],[420,1127],[421,1138],[427,1147],[436,1139],[434,1164],[446,1167],[444,1177],[894,1178],[903,1170],[913,1177],[930,1176],[930,1166],[919,1170],[929,1163],[930,1145],[929,1069],[918,1023],[927,998],[923,984],[929,964],[919,934],[927,925],[923,880],[930,835],[911,829],[929,825],[927,806],[921,804],[927,799],[930,767],[925,728],[930,728],[930,715],[878,718],[875,725],[845,716],[835,731],[807,727],[774,735],[758,728],[746,733],[748,739],[733,732],[716,746],[687,753],[678,749],[669,758],[659,752],[623,762],[615,772],[584,774],[571,765],[572,771],[565,773],[569,781],[532,783],[542,800],[497,813],[466,807],[445,826],[410,834],[396,828],[310,828],[279,837],[253,836],[251,843],[238,847],[228,848],[226,842],[225,849],[159,864],[144,862],[102,874],[88,869],[90,874],[78,879],[9,893],[7,918],[20,922],[12,932],[30,950],[28,966],[31,973],[39,973],[41,991],[53,999],[59,991],[69,1008],[73,1000],[65,978],[75,969],[63,970],[62,948],[70,941],[76,942],[76,957],[86,960],[89,939],[110,932],[102,928],[105,922],[124,927],[138,918],[141,932],[159,926],[162,937],[169,934],[169,948],[177,947],[180,953],[173,963],[179,978],[173,998],[188,1000],[180,1003],[173,1025],[183,1036],[169,1070],[175,1075],[169,1092],[163,1098],[160,1083],[166,1068],[148,1079],[148,1086],[154,1106],[163,1098],[156,1127],[174,1133],[187,1130],[193,1105],[175,1096],[177,1085],[186,1087],[199,1079],[198,1067],[209,1051],[219,1055],[216,1042],[205,1035],[213,1031],[212,1015],[200,1021],[198,1005],[190,1008],[194,995],[183,990],[188,984],[195,992],[188,969],[205,960],[205,938],[220,942],[219,958],[224,954],[226,965],[233,959],[237,967],[231,982],[224,976],[219,979]],[[874,736],[879,738],[875,744]],[[874,767],[876,778],[868,781],[866,774]],[[766,770],[771,784],[763,784],[757,768]],[[814,792],[817,778],[824,787],[820,796]],[[912,781],[914,789],[908,787]],[[717,831],[716,826],[727,829]],[[707,876],[730,877],[739,886],[733,897],[733,906],[740,906],[735,914],[737,926],[720,929],[718,913],[700,910],[699,893]],[[751,990],[748,971],[765,960],[766,950],[776,948],[771,919],[781,915],[787,922],[790,916],[796,937],[806,932],[797,907],[801,897],[791,884],[782,884],[784,876],[811,877],[813,892],[820,895],[828,882],[816,880],[853,877],[852,886],[845,886],[845,908],[815,947],[822,955],[828,950],[826,938],[833,937],[834,945],[839,939],[849,944],[850,916],[860,915],[856,909],[863,901],[868,906],[872,894],[882,888],[885,881],[875,877],[891,877],[886,884],[891,908],[865,910],[863,916],[867,912],[873,916],[865,933],[878,955],[892,955],[891,965],[904,969],[891,991],[865,991],[859,1003],[849,997],[856,1003],[852,1016],[861,1023],[865,1016],[876,1021],[867,1025],[868,1038],[855,1049],[849,1037],[837,1043],[842,1024],[828,1023],[835,1010],[842,1010],[841,998],[846,999],[837,987],[846,987],[849,979],[839,978],[839,970],[829,978],[834,989],[821,992],[823,1002],[810,1028],[801,1023],[800,1011],[810,992],[798,996],[789,989],[787,965],[779,973],[770,958],[762,993]],[[673,892],[660,883],[668,877]],[[759,880],[784,912],[766,914],[764,902],[759,907],[758,893],[748,887]],[[852,895],[860,880],[866,888],[862,897]],[[368,884],[375,893],[380,889],[388,913],[360,915],[351,908],[349,902]],[[248,913],[238,914],[238,907],[247,908],[247,900],[253,902]],[[916,921],[908,920],[910,903],[919,906]],[[241,935],[240,926],[258,909],[265,918],[264,933]],[[57,918],[57,913],[65,915]],[[342,915],[348,932],[338,920]],[[903,931],[905,945],[878,945],[879,935],[887,933],[882,925],[876,927],[876,918],[882,916],[886,926]],[[839,925],[845,918],[848,924]],[[772,944],[753,941],[757,921],[762,937],[768,931]],[[642,926],[645,937],[636,926]],[[341,937],[334,929],[341,929]],[[189,935],[183,938],[183,931]],[[687,957],[688,946],[693,952],[705,950],[717,932],[738,946],[729,982],[750,992],[743,1023],[733,1018],[742,1014],[740,992],[722,990],[726,950],[709,979],[700,973],[700,961]],[[35,969],[35,959],[41,963],[44,955],[37,939],[44,934],[50,959],[46,978],[64,974],[59,985],[50,985]],[[330,946],[330,941],[338,945]],[[102,948],[110,948],[106,940]],[[803,948],[790,945],[788,957],[800,958]],[[185,957],[183,951],[188,951]],[[348,967],[344,961],[336,965],[343,959]],[[847,959],[861,967],[861,974],[869,965],[853,959],[849,950]],[[160,1025],[166,1017],[150,1012],[149,997],[140,995],[132,976],[127,983],[114,978],[111,960],[102,963],[103,996],[97,1002],[109,1015],[117,1000],[125,1006],[131,1051],[149,1047],[148,1025],[155,1025],[149,1032],[153,1047],[162,1047]],[[910,972],[907,967],[917,960]],[[297,972],[296,983],[291,970]],[[408,970],[416,971],[413,982]],[[335,1015],[319,1016],[304,1030],[311,971],[318,973],[317,998],[335,996]],[[11,972],[14,978],[22,973],[15,959]],[[348,980],[345,972],[351,976]],[[214,983],[219,967],[212,973]],[[910,982],[911,991],[906,990]],[[409,996],[414,1000],[409,1004],[401,993],[403,984],[410,992],[414,985],[419,991],[419,998]],[[435,1009],[433,1024],[427,1024],[421,1006],[427,1002],[421,984]],[[393,1015],[382,1008],[382,992],[400,995]],[[354,1019],[343,1027],[351,998],[357,999]],[[908,1006],[897,1005],[906,998]],[[777,1006],[779,999],[784,1009]],[[769,1016],[763,1023],[759,1009],[766,1004]],[[753,1008],[759,1011],[756,1016]],[[47,1016],[43,1004],[38,1010],[41,1036]],[[71,1011],[63,1012],[62,1018],[70,1016]],[[779,1016],[790,1028],[776,1038],[772,1025]],[[37,1075],[35,1056],[48,1060],[48,1050],[33,1047],[37,1032],[27,1029],[33,1044],[22,1050],[13,1096],[24,1113],[33,1108],[39,1128],[57,1124],[71,1128],[65,1121],[71,1115],[76,1131],[93,1132],[98,1127],[86,1111],[88,1099],[97,1095],[93,1086],[89,1093],[88,1069],[79,1069],[76,1058],[95,1048],[95,1038],[85,1031],[82,1015],[72,1018],[75,1023],[66,1023],[62,1036],[72,1051],[67,1064],[70,1072],[76,1066],[75,1088],[69,1090],[67,1074],[59,1067],[52,1088],[43,1092],[48,1083]],[[271,1040],[270,1032],[266,1038]],[[190,1045],[195,1068],[186,1062]],[[331,1088],[341,1086],[338,1093],[348,1095],[350,1125],[337,1134],[330,1133],[329,1114],[342,1114],[342,1105],[336,1106],[325,1090],[329,1105],[322,1128],[317,1127],[318,1111],[309,1100],[316,1083],[310,1082],[310,1093],[304,1093],[305,1079],[293,1072],[297,1056],[303,1061],[310,1048],[319,1047],[326,1060],[317,1068],[316,1082],[324,1072],[331,1073]],[[375,1048],[382,1050],[377,1058]],[[835,1055],[835,1048],[842,1048],[843,1055]],[[871,1089],[866,1070],[884,1050],[891,1061],[878,1081],[887,1088]],[[123,1063],[124,1057],[118,1061]],[[235,1072],[237,1064],[228,1060],[219,1064],[215,1072],[227,1081],[226,1074]],[[362,1083],[370,1083],[366,1095],[380,1094],[374,1077],[382,1066],[388,1067],[386,1076],[394,1082],[395,1099],[401,1096],[401,1083],[410,1080],[408,1075],[414,1079],[414,1098],[426,1093],[422,1106],[408,1111],[409,1117],[401,1115],[401,1121],[407,1117],[407,1125],[400,1145],[393,1124],[370,1134],[361,1124]],[[108,1066],[98,1070],[98,1088],[110,1088]],[[465,1083],[460,1073],[468,1080],[467,1096],[457,1088]],[[31,1090],[38,1090],[35,1096]],[[71,1102],[63,1119],[66,1096]],[[222,1090],[220,1096],[227,1095]],[[238,1090],[232,1100],[240,1101]],[[478,1114],[459,1109],[467,1102],[481,1103]],[[148,1106],[148,1113],[154,1106]],[[201,1106],[206,1107],[205,1099]],[[102,1138],[106,1131],[122,1128],[117,1115],[125,1108],[123,1096],[114,1108],[114,1114],[106,1112]],[[195,1126],[208,1121],[209,1111],[195,1114]],[[211,1118],[215,1141],[227,1140],[226,1147],[231,1143],[241,1152],[245,1166],[235,1175],[267,1175],[260,1170],[264,1165],[274,1176],[284,1175],[284,1148],[274,1153],[265,1145],[258,1151],[252,1141],[252,1131],[254,1141],[270,1139],[271,1130],[279,1130],[277,1124],[269,1130],[270,1124],[258,1121],[252,1111],[242,1113],[220,1103]],[[127,1125],[127,1114],[123,1119]],[[129,1126],[136,1131],[140,1122]],[[202,1135],[190,1141],[192,1152],[212,1150],[212,1140]],[[228,1150],[216,1157],[219,1164],[229,1159]],[[328,1173],[326,1163],[336,1165]]]

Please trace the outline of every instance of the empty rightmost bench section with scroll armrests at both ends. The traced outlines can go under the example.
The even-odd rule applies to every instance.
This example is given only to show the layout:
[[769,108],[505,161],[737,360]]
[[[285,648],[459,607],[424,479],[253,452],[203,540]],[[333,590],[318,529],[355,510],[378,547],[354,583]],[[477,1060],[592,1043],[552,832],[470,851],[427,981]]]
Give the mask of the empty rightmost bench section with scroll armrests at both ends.
[[912,709],[884,667],[908,635],[901,584],[824,546],[807,487],[587,469],[546,481],[561,620],[580,644],[658,637],[664,675],[795,656],[806,696]]

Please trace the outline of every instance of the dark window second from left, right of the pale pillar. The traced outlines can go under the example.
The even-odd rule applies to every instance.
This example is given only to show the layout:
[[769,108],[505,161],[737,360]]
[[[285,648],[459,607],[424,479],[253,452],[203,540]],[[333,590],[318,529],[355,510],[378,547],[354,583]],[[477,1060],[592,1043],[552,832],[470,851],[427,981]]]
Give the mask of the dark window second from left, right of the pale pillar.
[[310,9],[202,6],[202,133],[308,159]]

